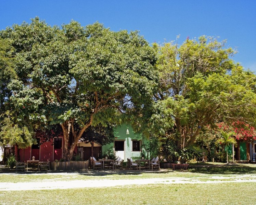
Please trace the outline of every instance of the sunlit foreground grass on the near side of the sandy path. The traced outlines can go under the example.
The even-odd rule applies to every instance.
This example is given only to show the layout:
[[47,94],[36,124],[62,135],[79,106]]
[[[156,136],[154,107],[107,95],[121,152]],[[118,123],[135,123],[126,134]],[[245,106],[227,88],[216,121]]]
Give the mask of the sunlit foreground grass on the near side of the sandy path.
[[255,204],[255,183],[1,191],[0,204]]

